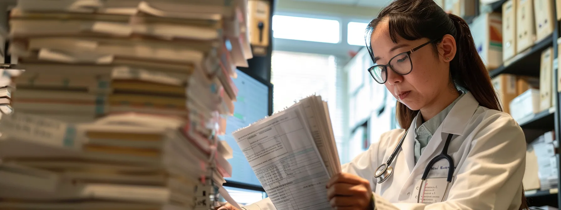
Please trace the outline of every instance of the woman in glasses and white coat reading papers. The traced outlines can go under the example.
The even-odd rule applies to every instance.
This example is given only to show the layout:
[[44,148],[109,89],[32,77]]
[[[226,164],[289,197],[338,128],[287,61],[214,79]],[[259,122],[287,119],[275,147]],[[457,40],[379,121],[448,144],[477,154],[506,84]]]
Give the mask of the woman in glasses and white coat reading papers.
[[[369,72],[398,100],[397,118],[406,129],[384,133],[342,166],[327,184],[332,206],[526,208],[524,133],[502,112],[466,22],[433,0],[397,0],[367,31],[375,63]],[[397,155],[388,161],[394,150]],[[441,153],[450,158],[431,164]],[[387,162],[392,175],[378,167]],[[256,206],[272,205],[264,200]]]

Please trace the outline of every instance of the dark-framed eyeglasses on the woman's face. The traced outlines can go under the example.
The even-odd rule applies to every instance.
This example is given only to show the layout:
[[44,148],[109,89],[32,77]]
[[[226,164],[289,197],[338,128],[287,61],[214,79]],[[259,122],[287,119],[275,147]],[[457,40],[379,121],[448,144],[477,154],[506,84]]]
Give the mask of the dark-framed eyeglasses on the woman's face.
[[389,59],[388,64],[374,65],[373,67],[368,68],[368,72],[370,72],[370,75],[374,78],[374,80],[380,84],[388,81],[388,67],[390,67],[393,72],[396,72],[399,75],[406,75],[408,73],[411,73],[411,71],[413,70],[413,62],[411,62],[410,58],[411,53],[421,49],[427,44],[433,43],[438,40],[439,39],[433,39],[407,52],[399,53],[392,59]]

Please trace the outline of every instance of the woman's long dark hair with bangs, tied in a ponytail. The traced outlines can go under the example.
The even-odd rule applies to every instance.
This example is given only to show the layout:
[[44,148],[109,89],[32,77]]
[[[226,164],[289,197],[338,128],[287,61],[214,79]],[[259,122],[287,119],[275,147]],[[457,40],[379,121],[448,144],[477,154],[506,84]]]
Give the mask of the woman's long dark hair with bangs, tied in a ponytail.
[[[450,61],[451,81],[457,88],[470,91],[481,106],[502,111],[489,72],[473,43],[470,27],[461,17],[444,12],[433,0],[393,1],[380,11],[366,29],[366,46],[373,60],[370,36],[380,21],[388,21],[389,35],[394,43],[400,37],[406,40],[434,40],[442,39],[447,34],[452,35],[456,39],[457,50],[456,56]],[[436,56],[439,43],[440,41],[433,43]],[[416,114],[417,111],[397,102],[396,118],[402,128],[409,128]],[[520,209],[528,209],[523,191]]]

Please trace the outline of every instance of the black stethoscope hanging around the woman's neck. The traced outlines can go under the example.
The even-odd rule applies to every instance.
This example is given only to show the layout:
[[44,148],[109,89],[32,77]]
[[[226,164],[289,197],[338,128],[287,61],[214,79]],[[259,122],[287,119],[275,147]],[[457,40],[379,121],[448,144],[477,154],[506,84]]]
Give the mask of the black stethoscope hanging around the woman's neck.
[[[390,164],[392,164],[393,159],[397,156],[399,149],[401,149],[401,145],[403,144],[403,140],[405,139],[405,136],[407,136],[408,131],[409,129],[405,130],[405,134],[403,134],[403,137],[401,137],[401,140],[399,140],[397,147],[393,150],[392,155],[389,156],[388,161],[378,166],[376,172],[374,172],[374,177],[378,178],[378,183],[383,183],[385,180],[389,178],[389,176],[393,174],[393,167],[390,166]],[[450,141],[452,141],[452,136],[453,136],[452,133],[448,134],[448,138],[444,143],[444,148],[442,148],[442,152],[440,152],[440,155],[434,157],[433,160],[430,160],[429,164],[425,167],[425,172],[423,172],[421,177],[420,186],[422,186],[422,184],[425,182],[427,176],[429,176],[429,171],[431,167],[436,162],[438,162],[441,159],[448,160],[448,176],[446,178],[447,184],[446,184],[446,189],[444,190],[444,195],[442,196],[442,200],[444,200],[444,197],[448,192],[448,186],[450,185],[450,182],[452,182],[452,178],[454,176],[454,160],[452,159],[452,157],[448,155],[448,146],[450,146]],[[421,195],[421,190],[419,190],[419,195],[417,195],[417,203],[419,203],[420,195]]]

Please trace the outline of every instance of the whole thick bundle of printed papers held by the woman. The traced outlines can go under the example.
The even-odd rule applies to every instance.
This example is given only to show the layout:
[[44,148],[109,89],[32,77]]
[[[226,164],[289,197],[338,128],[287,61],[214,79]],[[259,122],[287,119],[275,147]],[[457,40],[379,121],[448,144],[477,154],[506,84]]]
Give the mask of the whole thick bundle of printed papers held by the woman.
[[275,208],[331,209],[325,185],[341,164],[321,96],[302,99],[232,135]]

